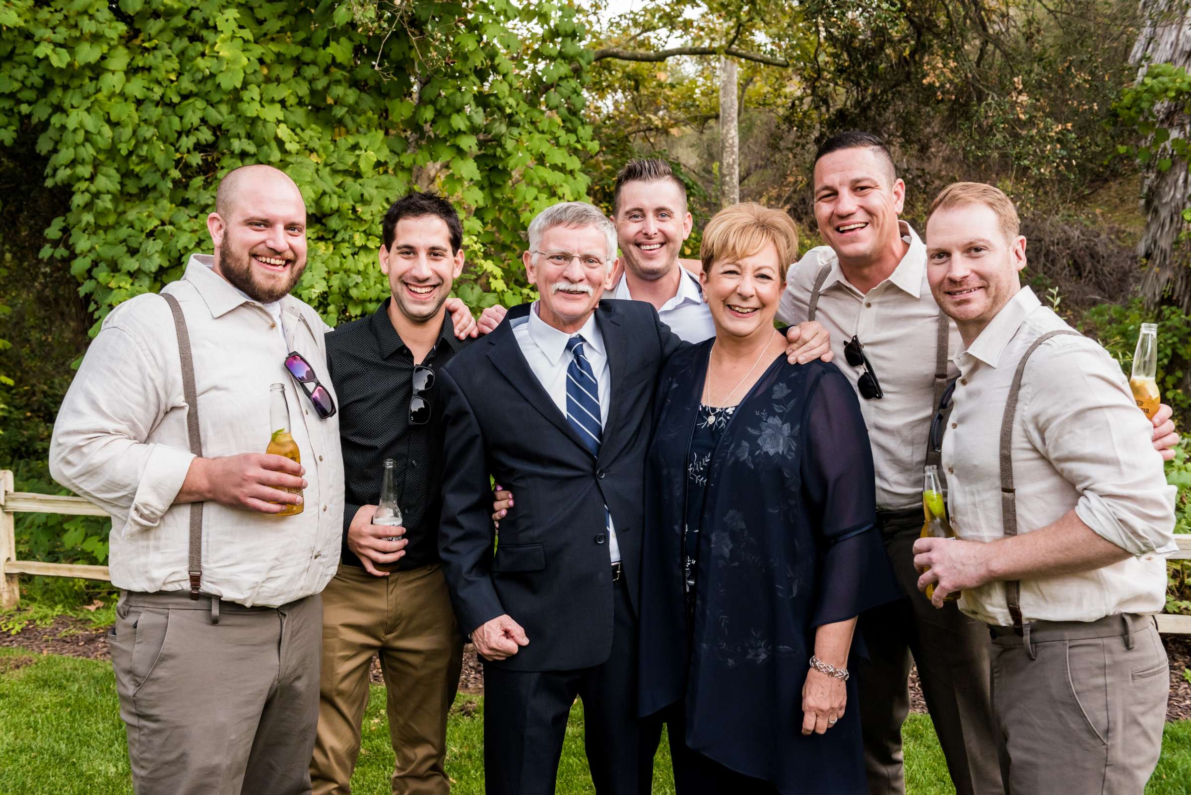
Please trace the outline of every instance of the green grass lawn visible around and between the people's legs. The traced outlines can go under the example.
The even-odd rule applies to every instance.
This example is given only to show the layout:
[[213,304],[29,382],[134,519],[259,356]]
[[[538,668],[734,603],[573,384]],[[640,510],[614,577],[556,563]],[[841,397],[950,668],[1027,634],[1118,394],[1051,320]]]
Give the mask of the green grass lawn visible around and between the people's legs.
[[[393,751],[388,746],[384,693],[373,688],[363,724],[363,751],[353,780],[361,795],[389,791]],[[460,696],[448,734],[447,771],[454,793],[484,791],[484,705]],[[582,709],[570,715],[559,769],[559,793],[594,793],[582,747]],[[908,789],[912,795],[954,793],[930,719],[911,715],[905,726]],[[1148,795],[1184,795],[1191,789],[1191,721],[1168,724]],[[127,795],[129,760],[107,663],[0,649],[0,795]],[[654,791],[674,791],[665,743],[657,753]]]

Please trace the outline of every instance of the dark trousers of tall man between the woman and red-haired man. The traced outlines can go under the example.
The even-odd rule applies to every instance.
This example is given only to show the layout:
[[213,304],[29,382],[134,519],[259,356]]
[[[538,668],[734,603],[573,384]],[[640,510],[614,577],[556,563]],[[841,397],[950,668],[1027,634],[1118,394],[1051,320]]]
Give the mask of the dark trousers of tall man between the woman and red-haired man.
[[989,691],[989,628],[954,602],[936,609],[918,590],[912,547],[921,532],[921,511],[881,522],[885,550],[906,599],[860,616],[868,659],[858,659],[854,668],[868,791],[905,795],[902,724],[910,712],[912,655],[955,791],[1002,795]]

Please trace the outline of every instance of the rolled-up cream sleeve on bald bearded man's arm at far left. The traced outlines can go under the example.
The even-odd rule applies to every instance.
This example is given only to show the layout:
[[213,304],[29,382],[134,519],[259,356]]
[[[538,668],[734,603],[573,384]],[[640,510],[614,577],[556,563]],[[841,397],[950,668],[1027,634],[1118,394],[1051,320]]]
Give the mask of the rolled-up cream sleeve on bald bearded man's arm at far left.
[[54,480],[112,514],[125,537],[157,526],[194,458],[146,442],[170,408],[162,364],[133,331],[105,324],[54,422]]

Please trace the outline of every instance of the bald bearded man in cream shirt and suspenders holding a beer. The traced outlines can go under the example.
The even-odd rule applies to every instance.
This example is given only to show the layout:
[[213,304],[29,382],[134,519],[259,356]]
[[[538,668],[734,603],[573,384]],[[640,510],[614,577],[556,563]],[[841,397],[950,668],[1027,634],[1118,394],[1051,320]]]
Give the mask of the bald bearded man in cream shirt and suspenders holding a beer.
[[[306,267],[306,207],[288,176],[230,171],[207,229],[214,256],[191,257],[162,290],[188,342],[161,295],[113,309],[58,412],[50,471],[112,515],[121,595],[108,640],[137,795],[301,795],[318,718],[318,594],[343,532],[328,327],[289,295]],[[291,352],[323,378],[320,403],[287,373]],[[301,464],[263,452],[275,382]],[[304,509],[272,515],[287,503]]]

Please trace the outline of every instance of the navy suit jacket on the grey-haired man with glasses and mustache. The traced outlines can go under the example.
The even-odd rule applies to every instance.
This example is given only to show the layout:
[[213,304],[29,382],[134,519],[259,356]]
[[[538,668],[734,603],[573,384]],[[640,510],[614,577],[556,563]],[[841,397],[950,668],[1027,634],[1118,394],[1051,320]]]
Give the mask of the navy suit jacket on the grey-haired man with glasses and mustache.
[[[522,355],[515,307],[441,371],[445,471],[438,549],[464,632],[507,613],[529,638],[510,670],[591,668],[612,646],[612,513],[632,603],[640,591],[646,449],[662,364],[685,345],[642,301],[603,300],[611,406],[593,458]],[[492,525],[488,476],[516,506]]]

